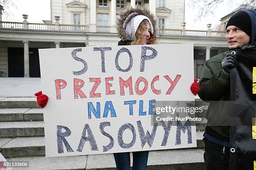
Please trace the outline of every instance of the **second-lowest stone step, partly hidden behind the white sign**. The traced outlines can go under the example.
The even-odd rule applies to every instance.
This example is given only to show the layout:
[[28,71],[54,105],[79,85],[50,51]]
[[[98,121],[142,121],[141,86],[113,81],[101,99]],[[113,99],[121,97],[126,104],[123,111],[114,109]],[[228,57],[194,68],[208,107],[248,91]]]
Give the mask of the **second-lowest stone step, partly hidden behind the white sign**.
[[[203,133],[197,132],[197,148],[204,148],[204,142],[202,140]],[[44,136],[0,138],[0,151],[5,158],[44,156]]]

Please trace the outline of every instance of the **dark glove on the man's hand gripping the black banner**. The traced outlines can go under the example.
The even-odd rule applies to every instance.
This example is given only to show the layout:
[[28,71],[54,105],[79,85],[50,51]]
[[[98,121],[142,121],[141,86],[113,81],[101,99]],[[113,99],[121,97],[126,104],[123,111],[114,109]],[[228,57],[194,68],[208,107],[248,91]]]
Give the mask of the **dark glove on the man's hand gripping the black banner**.
[[227,54],[226,57],[222,60],[221,65],[224,72],[230,74],[230,69],[235,68],[237,64],[236,55]]

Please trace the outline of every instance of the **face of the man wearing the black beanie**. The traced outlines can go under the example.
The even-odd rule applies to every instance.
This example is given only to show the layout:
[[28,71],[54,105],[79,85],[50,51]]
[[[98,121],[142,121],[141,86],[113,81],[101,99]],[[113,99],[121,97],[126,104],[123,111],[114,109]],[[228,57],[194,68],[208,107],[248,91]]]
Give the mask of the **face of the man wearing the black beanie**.
[[226,32],[226,40],[228,41],[228,48],[230,50],[236,49],[238,45],[248,45],[250,42],[249,35],[234,25],[229,25]]

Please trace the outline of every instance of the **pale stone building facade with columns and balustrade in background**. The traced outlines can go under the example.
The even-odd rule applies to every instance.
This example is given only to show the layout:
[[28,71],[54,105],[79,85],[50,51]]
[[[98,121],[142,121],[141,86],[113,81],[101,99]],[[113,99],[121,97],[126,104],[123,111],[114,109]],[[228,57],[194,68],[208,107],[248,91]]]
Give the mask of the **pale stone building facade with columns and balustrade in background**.
[[228,49],[225,32],[210,24],[186,30],[184,0],[51,0],[51,20],[44,23],[29,23],[28,15],[22,23],[0,20],[0,76],[40,77],[39,48],[117,45],[115,20],[137,4],[156,15],[160,44],[194,44],[195,77],[205,60]]

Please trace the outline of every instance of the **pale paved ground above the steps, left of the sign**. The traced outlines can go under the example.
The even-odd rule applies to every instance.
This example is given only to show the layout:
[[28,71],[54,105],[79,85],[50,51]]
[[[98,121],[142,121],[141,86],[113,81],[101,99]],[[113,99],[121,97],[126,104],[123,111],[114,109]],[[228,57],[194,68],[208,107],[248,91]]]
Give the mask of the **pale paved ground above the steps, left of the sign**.
[[41,78],[0,77],[0,97],[35,97],[41,90]]

